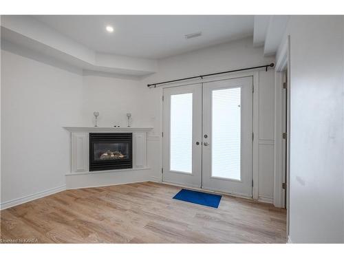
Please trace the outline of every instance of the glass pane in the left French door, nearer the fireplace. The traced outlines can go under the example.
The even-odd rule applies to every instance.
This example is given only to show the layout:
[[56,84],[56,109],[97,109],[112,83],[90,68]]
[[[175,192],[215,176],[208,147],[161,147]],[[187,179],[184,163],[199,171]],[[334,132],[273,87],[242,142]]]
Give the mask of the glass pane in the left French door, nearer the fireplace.
[[192,173],[193,94],[171,95],[170,169]]

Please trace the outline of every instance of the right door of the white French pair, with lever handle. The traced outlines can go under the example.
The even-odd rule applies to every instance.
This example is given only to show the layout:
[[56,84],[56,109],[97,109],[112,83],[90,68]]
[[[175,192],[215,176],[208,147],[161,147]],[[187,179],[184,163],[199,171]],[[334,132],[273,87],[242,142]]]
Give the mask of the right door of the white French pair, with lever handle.
[[202,187],[252,197],[252,77],[203,84]]

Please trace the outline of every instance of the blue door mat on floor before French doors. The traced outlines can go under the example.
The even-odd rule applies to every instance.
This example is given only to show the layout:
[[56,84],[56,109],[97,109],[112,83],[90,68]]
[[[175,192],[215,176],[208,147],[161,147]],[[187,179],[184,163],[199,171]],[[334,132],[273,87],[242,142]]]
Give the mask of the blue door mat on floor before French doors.
[[214,195],[213,193],[203,193],[199,191],[182,189],[173,197],[173,199],[217,208],[219,206],[221,197],[222,195]]

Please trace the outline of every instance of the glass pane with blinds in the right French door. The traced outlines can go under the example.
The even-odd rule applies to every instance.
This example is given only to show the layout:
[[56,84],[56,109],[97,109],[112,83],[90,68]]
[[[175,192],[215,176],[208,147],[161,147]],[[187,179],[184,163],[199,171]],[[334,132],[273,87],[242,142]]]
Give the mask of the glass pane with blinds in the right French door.
[[241,88],[212,94],[211,174],[240,180]]

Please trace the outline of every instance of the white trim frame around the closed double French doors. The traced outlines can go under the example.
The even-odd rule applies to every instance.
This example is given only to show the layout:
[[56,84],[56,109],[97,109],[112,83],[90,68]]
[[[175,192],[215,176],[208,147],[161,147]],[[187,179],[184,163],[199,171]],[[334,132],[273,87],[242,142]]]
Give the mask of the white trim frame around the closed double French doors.
[[[164,128],[163,125],[163,100],[162,97],[164,95],[164,88],[167,87],[178,87],[178,86],[184,86],[184,85],[193,85],[193,84],[199,84],[199,83],[209,83],[216,80],[228,80],[228,79],[234,79],[234,78],[242,78],[242,77],[250,77],[253,78],[253,119],[252,119],[252,131],[253,131],[253,142],[252,142],[252,198],[253,200],[258,200],[258,178],[259,178],[259,166],[258,166],[258,151],[259,151],[259,71],[253,71],[253,72],[243,72],[243,73],[237,73],[237,74],[226,74],[223,76],[214,76],[211,78],[200,78],[196,80],[191,81],[184,81],[179,83],[169,83],[168,85],[163,85],[161,87],[155,88],[155,90],[160,90],[159,96],[160,96],[160,136],[162,135],[162,129]],[[163,140],[160,140],[160,168],[163,167]],[[162,173],[160,173],[159,182],[164,182],[162,180]],[[200,189],[204,190],[204,189]],[[227,193],[229,194],[229,193]],[[235,195],[235,194],[232,194]],[[240,196],[241,197],[241,196]],[[248,198],[248,197],[246,197]]]

